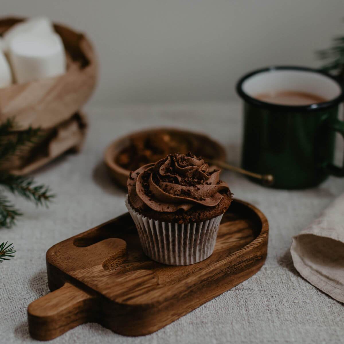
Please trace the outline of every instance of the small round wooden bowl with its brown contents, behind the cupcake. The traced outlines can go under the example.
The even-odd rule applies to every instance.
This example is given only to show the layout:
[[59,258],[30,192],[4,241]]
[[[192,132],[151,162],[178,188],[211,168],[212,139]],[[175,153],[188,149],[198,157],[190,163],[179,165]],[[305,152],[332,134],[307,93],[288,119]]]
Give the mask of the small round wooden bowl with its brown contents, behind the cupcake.
[[130,171],[177,152],[191,152],[205,160],[226,160],[225,149],[217,141],[202,133],[176,128],[143,129],[117,138],[106,148],[104,160],[114,181],[126,188]]

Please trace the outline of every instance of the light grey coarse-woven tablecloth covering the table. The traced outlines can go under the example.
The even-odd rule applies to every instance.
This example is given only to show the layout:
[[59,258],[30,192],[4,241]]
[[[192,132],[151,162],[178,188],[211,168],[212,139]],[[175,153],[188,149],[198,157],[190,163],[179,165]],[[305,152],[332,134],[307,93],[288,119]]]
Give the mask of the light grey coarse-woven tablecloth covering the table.
[[[228,161],[239,163],[239,103],[86,110],[90,132],[82,153],[62,157],[35,173],[56,192],[54,204],[48,210],[36,209],[18,200],[23,218],[15,228],[0,230],[0,240],[13,242],[17,250],[13,260],[0,265],[1,344],[33,342],[26,309],[48,293],[46,250],[127,211],[126,193],[112,184],[101,163],[112,139],[149,126],[192,128],[217,138]],[[255,276],[148,336],[124,337],[90,323],[52,343],[342,343],[343,304],[299,275],[289,248],[291,238],[343,193],[344,179],[330,177],[304,191],[270,190],[232,172],[222,179],[235,197],[257,206],[269,220],[268,257]]]

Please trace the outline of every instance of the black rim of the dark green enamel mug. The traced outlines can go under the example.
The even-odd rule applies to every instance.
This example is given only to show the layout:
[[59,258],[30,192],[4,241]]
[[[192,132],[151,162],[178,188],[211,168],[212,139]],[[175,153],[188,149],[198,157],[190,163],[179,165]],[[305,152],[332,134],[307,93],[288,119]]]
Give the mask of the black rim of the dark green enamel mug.
[[[247,80],[251,76],[255,74],[260,74],[263,72],[276,71],[276,70],[307,71],[307,72],[321,74],[333,80],[340,87],[342,92],[336,98],[333,98],[329,101],[324,101],[322,103],[316,103],[316,104],[310,104],[310,105],[281,105],[281,104],[267,103],[265,101],[258,100],[256,98],[249,96],[247,93],[243,91],[243,88],[242,88],[243,83],[245,82],[245,80]],[[270,110],[278,110],[278,111],[303,111],[303,112],[318,111],[321,109],[338,105],[344,100],[344,85],[340,83],[336,77],[330,74],[324,73],[320,71],[319,69],[314,69],[314,68],[309,68],[309,67],[300,67],[300,66],[270,66],[270,67],[256,69],[252,72],[245,74],[243,77],[241,77],[238,80],[236,84],[236,92],[240,98],[244,99],[245,101],[247,101],[247,103],[251,105],[255,105],[255,106],[270,109]]]

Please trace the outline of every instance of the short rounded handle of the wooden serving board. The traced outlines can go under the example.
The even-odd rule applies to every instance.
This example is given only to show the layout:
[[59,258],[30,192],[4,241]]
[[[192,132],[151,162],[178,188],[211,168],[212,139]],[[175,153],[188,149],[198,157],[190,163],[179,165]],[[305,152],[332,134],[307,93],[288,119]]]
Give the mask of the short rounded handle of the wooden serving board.
[[51,340],[80,324],[95,321],[97,314],[95,296],[65,283],[29,304],[29,332],[37,340]]

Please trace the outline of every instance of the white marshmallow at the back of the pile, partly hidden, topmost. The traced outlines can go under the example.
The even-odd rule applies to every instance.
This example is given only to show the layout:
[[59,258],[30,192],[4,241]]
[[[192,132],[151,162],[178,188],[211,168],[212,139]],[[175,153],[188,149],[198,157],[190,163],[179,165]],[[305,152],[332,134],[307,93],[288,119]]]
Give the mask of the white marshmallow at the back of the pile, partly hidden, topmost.
[[37,36],[46,36],[54,33],[54,27],[52,22],[45,17],[30,18],[13,25],[3,34],[5,52],[8,52],[11,41],[22,33],[32,33]]

